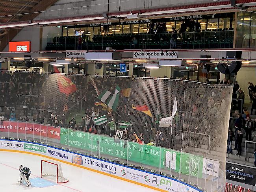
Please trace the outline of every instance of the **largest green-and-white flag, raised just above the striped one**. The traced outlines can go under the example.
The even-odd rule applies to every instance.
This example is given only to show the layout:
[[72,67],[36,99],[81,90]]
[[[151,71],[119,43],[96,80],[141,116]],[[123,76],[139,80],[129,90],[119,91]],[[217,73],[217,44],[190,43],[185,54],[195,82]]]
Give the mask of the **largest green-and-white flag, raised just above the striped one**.
[[104,90],[99,96],[98,99],[101,100],[103,103],[108,105],[109,108],[113,109],[113,111],[116,111],[117,106],[119,104],[119,92],[120,87],[117,85],[115,88],[115,93],[111,97],[111,92],[108,90]]

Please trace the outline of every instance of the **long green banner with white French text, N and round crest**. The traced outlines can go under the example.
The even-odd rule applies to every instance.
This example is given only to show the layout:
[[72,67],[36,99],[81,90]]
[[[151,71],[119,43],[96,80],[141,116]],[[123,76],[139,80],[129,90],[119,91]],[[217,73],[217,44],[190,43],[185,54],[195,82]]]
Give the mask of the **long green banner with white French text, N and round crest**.
[[[98,144],[99,142],[99,144]],[[159,169],[170,169],[182,174],[202,177],[203,157],[173,151],[157,146],[140,145],[136,142],[124,142],[112,137],[104,137],[82,131],[72,131],[61,128],[60,143],[86,151],[99,152],[100,156],[109,155],[126,161],[154,166]],[[161,163],[160,163],[161,159]],[[181,161],[181,162],[180,162]],[[180,165],[181,168],[180,168]]]

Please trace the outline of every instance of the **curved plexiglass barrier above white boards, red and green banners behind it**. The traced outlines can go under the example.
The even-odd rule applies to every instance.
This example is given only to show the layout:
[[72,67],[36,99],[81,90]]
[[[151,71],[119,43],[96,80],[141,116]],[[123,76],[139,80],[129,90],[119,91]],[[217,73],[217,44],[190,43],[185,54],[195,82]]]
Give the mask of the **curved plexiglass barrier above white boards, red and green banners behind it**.
[[[218,161],[169,148],[115,140],[106,135],[9,120],[0,125],[0,139],[26,140],[73,151],[178,179],[202,191],[223,192],[226,184]],[[208,164],[214,164],[211,166],[214,171],[208,170]]]

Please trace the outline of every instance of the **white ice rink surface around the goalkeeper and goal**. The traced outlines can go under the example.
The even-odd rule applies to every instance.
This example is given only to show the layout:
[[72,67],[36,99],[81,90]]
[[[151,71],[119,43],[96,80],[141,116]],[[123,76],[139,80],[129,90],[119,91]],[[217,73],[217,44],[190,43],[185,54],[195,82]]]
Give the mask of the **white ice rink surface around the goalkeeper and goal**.
[[[98,174],[61,162],[63,175],[68,183],[56,184],[40,178],[41,160],[47,159],[37,155],[0,151],[0,192],[156,192],[140,185]],[[19,165],[31,170],[32,186],[17,185]]]

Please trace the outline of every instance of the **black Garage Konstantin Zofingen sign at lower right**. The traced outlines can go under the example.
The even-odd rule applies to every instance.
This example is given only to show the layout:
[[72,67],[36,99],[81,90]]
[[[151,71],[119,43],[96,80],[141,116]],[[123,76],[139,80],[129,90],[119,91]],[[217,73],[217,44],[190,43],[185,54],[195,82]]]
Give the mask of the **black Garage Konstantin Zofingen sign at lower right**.
[[226,163],[226,179],[256,186],[256,169]]

